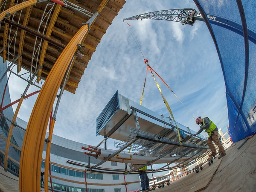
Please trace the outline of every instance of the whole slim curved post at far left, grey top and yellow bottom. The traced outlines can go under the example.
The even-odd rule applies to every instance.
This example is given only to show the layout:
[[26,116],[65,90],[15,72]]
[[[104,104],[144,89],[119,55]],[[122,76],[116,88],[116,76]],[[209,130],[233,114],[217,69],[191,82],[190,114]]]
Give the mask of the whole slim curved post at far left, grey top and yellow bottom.
[[[20,106],[23,102],[24,96],[26,95],[27,90],[29,89],[31,82],[33,81],[33,79],[36,76],[37,71],[35,71],[35,73],[33,74],[31,80],[29,81],[28,85],[26,86],[26,89],[24,90],[23,94],[21,95],[21,99],[18,103],[18,106],[16,108],[16,111],[14,113],[14,116],[12,118],[12,122],[16,121],[18,112],[20,111]],[[10,128],[9,128],[9,133],[8,133],[8,137],[7,137],[7,141],[6,141],[6,150],[5,150],[5,157],[4,157],[4,170],[7,171],[7,161],[8,161],[8,154],[9,154],[9,147],[10,147],[10,142],[11,142],[11,137],[12,137],[12,130],[13,130],[14,124],[12,123]]]

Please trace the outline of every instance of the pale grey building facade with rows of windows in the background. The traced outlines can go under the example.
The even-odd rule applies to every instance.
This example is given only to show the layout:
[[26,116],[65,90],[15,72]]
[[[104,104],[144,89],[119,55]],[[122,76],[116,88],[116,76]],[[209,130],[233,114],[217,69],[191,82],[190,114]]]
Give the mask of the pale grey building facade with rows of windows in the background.
[[[6,65],[0,65],[0,76],[4,75],[6,71]],[[11,103],[9,87],[4,94],[5,86],[7,82],[7,76],[0,82],[0,96],[3,99],[3,106]],[[4,97],[3,97],[4,96]],[[6,140],[11,126],[11,120],[14,116],[12,106],[5,109],[0,118],[0,163],[4,166],[4,156],[6,149]],[[27,122],[20,118],[16,119],[15,127],[12,132],[11,146],[9,148],[9,157],[7,162],[7,170],[12,174],[19,176],[20,171],[20,155],[22,151],[23,139],[26,132]],[[48,132],[45,136],[48,138]],[[93,166],[99,163],[101,160],[97,160],[95,157],[84,154],[82,146],[88,147],[87,144],[79,143],[76,141],[68,140],[57,135],[52,136],[50,151],[51,162],[51,175],[52,186],[54,191],[66,191],[66,192],[126,192],[141,189],[140,178],[138,174],[124,175],[123,172],[112,172],[109,174],[103,173],[101,170],[94,169],[95,172],[87,172],[85,166]],[[42,155],[41,173],[43,173],[45,167],[45,155],[46,155],[47,143],[44,144],[44,150]],[[99,168],[111,170],[124,170],[124,163],[117,163],[107,161],[103,163]],[[93,170],[93,171],[94,171]],[[41,174],[43,179],[41,182],[44,187],[44,175]],[[134,182],[125,186],[125,182]],[[87,185],[85,184],[87,182]],[[119,185],[113,185],[117,183]],[[106,184],[106,185],[105,185]],[[49,179],[49,189],[51,188]]]

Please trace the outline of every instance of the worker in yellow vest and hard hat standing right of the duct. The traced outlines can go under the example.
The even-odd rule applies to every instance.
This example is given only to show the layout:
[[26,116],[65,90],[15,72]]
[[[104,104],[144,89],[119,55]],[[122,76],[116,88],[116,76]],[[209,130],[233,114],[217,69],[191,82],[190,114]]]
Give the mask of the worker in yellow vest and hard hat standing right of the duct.
[[195,122],[198,125],[200,124],[200,129],[196,134],[193,134],[194,137],[197,134],[200,134],[203,130],[206,131],[207,134],[209,135],[208,140],[207,140],[207,144],[208,144],[210,150],[212,151],[212,154],[210,154],[209,157],[217,155],[217,151],[216,151],[214,145],[212,144],[212,141],[215,143],[215,145],[218,146],[218,149],[221,153],[221,155],[218,157],[218,159],[220,159],[221,157],[226,155],[225,149],[222,146],[222,144],[219,140],[219,137],[218,137],[218,128],[214,124],[214,122],[212,122],[208,117],[201,118],[201,116],[199,116],[195,120]]

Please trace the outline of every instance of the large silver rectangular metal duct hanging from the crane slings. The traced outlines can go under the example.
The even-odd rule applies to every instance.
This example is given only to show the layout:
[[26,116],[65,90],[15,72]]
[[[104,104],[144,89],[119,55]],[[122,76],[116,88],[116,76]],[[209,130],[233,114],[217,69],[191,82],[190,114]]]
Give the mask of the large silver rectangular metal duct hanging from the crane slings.
[[[192,134],[195,134],[195,131],[184,125],[180,123],[177,123],[177,125],[185,133],[186,137],[191,137]],[[133,102],[131,99],[120,95],[118,91],[97,117],[96,135],[123,141],[131,134],[131,128],[138,129],[138,126],[140,128],[139,131],[177,140],[176,126],[172,119],[163,117]],[[201,139],[205,141],[204,137],[201,137]]]

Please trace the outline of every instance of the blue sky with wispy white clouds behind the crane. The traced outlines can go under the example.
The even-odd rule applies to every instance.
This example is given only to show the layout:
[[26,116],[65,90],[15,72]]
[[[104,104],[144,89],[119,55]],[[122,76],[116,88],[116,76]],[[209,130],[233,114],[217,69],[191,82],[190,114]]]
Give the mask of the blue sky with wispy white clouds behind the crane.
[[[182,8],[197,9],[192,0],[128,0],[93,53],[76,94],[64,91],[53,134],[88,145],[97,145],[103,140],[103,136],[96,136],[96,118],[116,90],[140,103],[146,74],[143,55],[194,118],[208,116],[218,128],[226,128],[224,78],[206,24],[197,21],[193,26],[184,26],[163,20],[128,20],[131,25],[128,26],[123,22],[123,18],[142,13]],[[156,79],[175,120],[198,131],[195,119],[163,82]],[[9,89],[12,101],[20,98],[26,85],[25,81],[11,76]],[[35,90],[38,88],[31,86],[27,93]],[[19,118],[28,122],[37,96],[23,101]],[[150,73],[142,105],[163,116],[170,116]],[[17,104],[13,106],[14,111],[16,107]],[[113,141],[107,143],[108,148],[114,149]]]

